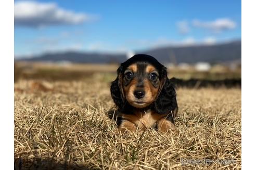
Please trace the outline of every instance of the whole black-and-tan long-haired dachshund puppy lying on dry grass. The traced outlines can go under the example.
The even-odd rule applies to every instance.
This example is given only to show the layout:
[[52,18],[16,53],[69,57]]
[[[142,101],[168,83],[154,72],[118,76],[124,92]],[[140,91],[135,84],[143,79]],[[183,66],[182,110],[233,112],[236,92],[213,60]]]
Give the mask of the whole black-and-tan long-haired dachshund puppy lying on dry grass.
[[112,115],[118,131],[155,127],[159,132],[175,130],[178,106],[167,68],[150,55],[137,54],[121,63],[111,83],[111,97],[117,105]]

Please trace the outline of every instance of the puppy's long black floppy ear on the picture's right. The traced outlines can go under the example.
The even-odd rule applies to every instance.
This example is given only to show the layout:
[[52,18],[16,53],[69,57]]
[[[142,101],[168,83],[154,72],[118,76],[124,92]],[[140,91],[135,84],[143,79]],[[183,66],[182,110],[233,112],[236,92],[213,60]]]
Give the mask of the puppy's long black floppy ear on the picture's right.
[[162,82],[155,101],[155,109],[159,114],[171,114],[173,119],[177,111],[176,92],[174,85],[167,77],[166,67],[162,69]]

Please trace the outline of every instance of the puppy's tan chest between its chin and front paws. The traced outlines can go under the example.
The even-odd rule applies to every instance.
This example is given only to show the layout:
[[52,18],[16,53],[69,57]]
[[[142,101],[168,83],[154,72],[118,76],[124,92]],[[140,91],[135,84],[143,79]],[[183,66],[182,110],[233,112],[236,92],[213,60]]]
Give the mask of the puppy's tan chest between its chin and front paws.
[[132,115],[123,115],[122,117],[136,124],[140,129],[149,129],[156,126],[157,122],[166,115],[157,114],[154,111],[135,111]]

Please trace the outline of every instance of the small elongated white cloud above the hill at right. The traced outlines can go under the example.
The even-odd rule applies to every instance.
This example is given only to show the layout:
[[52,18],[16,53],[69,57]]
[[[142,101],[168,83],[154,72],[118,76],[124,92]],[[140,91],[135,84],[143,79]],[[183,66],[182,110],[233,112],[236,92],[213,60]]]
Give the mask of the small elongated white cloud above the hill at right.
[[199,28],[209,29],[215,33],[220,33],[224,30],[232,30],[236,27],[236,23],[227,18],[216,19],[214,21],[193,20],[192,25]]

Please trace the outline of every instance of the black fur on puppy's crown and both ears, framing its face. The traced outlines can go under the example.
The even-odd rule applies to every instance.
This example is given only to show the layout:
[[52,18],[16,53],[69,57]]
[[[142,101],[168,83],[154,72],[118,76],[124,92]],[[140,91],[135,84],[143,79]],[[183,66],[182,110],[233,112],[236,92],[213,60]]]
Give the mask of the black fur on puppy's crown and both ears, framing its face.
[[161,91],[158,94],[157,100],[150,106],[151,109],[155,110],[159,114],[170,114],[168,120],[174,122],[174,118],[177,112],[177,101],[176,92],[173,84],[170,82],[167,76],[167,68],[160,64],[155,58],[150,55],[137,54],[134,55],[129,60],[121,63],[121,66],[117,70],[117,78],[111,84],[111,96],[114,103],[118,106],[119,110],[122,112],[127,112],[127,109],[134,109],[132,106],[126,102],[125,97],[122,92],[122,85],[120,82],[120,77],[122,77],[126,67],[130,66],[136,62],[146,62],[155,66],[159,73],[159,79],[162,82]]

